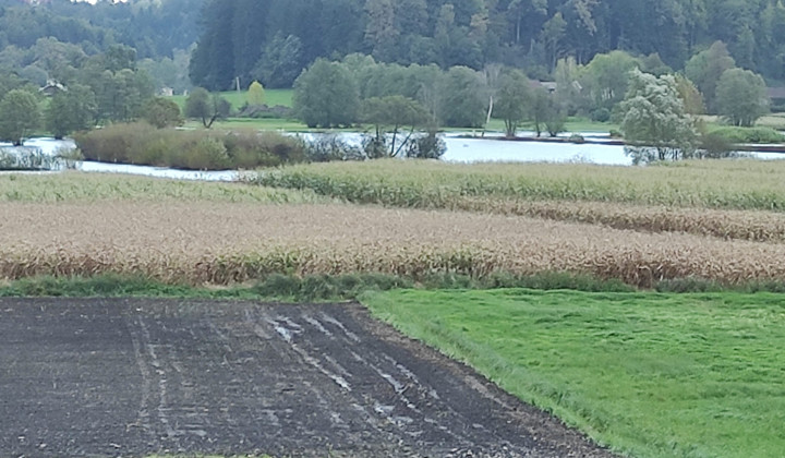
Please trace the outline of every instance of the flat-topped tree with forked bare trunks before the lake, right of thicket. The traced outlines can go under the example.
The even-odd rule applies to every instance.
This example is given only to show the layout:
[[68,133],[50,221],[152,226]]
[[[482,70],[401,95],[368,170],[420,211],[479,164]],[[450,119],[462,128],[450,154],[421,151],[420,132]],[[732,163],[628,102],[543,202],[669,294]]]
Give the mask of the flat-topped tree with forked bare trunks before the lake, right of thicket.
[[[397,157],[409,144],[414,130],[427,122],[427,112],[416,100],[403,96],[373,97],[363,103],[362,120],[375,126],[371,156],[379,157],[384,153],[384,156]],[[404,126],[409,132],[398,143],[398,134]],[[386,149],[385,141],[387,130],[392,134],[389,149]]]

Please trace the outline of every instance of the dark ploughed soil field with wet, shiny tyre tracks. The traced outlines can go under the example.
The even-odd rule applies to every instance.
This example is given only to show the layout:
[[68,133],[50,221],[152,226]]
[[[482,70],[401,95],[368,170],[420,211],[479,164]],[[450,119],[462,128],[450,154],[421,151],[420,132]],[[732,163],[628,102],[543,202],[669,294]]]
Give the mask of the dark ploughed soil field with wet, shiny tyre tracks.
[[359,305],[0,300],[0,456],[609,457]]

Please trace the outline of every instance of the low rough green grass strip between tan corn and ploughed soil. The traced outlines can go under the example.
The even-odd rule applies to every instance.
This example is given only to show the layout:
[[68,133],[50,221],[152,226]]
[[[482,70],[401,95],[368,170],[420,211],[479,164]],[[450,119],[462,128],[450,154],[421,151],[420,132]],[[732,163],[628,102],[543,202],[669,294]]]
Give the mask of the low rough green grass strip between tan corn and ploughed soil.
[[194,298],[267,300],[275,302],[349,301],[369,291],[394,289],[498,289],[631,292],[619,281],[602,281],[581,275],[545,273],[530,276],[498,274],[486,279],[466,275],[434,274],[420,281],[395,275],[310,275],[274,274],[255,282],[217,288],[188,284],[162,284],[138,275],[97,275],[94,277],[43,276],[0,284],[0,298]]

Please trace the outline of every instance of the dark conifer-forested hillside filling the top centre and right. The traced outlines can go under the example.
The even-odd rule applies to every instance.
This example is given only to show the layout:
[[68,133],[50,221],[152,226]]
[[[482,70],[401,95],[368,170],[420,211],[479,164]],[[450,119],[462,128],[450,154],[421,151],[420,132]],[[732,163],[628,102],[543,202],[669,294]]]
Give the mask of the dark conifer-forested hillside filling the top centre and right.
[[191,77],[283,87],[314,59],[352,52],[547,79],[559,58],[623,49],[679,70],[716,40],[739,67],[785,79],[781,0],[207,0]]

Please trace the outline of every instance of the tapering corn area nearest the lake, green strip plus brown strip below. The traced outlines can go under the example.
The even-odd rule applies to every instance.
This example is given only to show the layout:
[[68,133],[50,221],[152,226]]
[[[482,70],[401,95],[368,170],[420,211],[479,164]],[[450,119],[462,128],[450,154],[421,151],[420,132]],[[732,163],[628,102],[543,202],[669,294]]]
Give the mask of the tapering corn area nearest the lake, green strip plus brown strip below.
[[266,171],[250,181],[357,204],[531,216],[649,232],[785,240],[785,162],[587,165],[361,162]]

